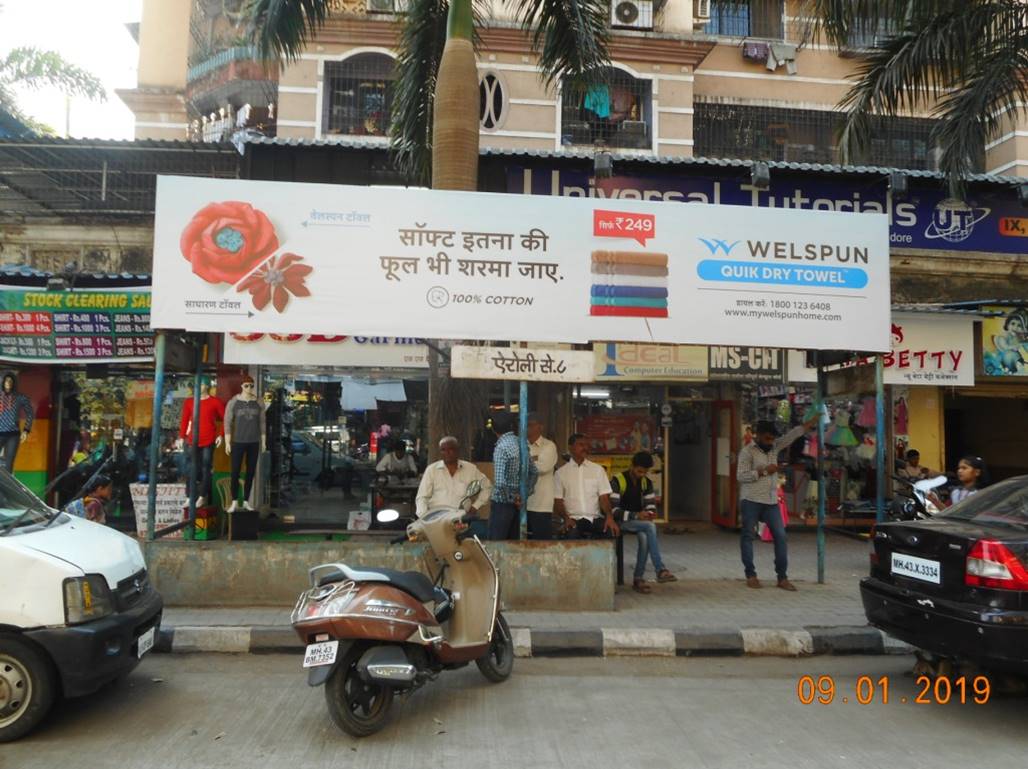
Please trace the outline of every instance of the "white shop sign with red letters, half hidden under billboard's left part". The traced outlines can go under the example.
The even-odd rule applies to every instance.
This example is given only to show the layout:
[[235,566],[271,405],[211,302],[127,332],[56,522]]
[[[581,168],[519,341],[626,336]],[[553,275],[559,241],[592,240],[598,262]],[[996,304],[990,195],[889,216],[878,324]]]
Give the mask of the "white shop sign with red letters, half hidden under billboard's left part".
[[428,368],[429,349],[412,336],[225,334],[225,363],[264,366]]

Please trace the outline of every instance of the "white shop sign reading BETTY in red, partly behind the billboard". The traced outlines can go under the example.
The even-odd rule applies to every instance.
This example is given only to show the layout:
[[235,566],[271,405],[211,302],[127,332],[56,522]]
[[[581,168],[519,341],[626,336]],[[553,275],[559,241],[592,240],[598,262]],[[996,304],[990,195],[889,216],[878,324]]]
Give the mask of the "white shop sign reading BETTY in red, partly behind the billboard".
[[[975,384],[975,323],[970,318],[944,315],[892,316],[892,350],[883,357],[886,384]],[[873,361],[855,361],[851,366]],[[790,381],[817,381],[806,366],[806,355],[792,351]]]

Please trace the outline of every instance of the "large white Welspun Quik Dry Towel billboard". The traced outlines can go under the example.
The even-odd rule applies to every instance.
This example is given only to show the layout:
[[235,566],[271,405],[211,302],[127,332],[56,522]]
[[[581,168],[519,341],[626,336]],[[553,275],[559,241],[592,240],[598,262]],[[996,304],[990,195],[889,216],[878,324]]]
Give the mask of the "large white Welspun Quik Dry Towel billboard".
[[884,216],[157,182],[154,328],[884,351],[888,300]]

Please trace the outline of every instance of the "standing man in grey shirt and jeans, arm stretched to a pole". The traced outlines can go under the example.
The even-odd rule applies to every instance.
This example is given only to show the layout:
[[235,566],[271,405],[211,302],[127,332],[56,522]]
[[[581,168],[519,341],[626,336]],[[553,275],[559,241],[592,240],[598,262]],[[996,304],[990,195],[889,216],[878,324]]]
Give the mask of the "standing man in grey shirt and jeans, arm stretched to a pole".
[[778,510],[778,453],[810,432],[818,415],[776,437],[774,423],[757,423],[752,443],[739,451],[739,499],[742,501],[742,567],[746,573],[746,586],[760,587],[757,566],[754,565],[754,537],[757,522],[764,521],[774,539],[774,571],[778,587],[796,590],[788,581],[788,547],[785,544],[785,524]]

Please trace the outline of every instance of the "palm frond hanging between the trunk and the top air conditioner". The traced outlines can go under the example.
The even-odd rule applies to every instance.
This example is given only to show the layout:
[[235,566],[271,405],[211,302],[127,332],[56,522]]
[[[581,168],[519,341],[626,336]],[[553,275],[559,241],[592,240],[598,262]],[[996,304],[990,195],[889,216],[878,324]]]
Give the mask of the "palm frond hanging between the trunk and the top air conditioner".
[[547,85],[583,78],[610,64],[607,0],[512,0]]

